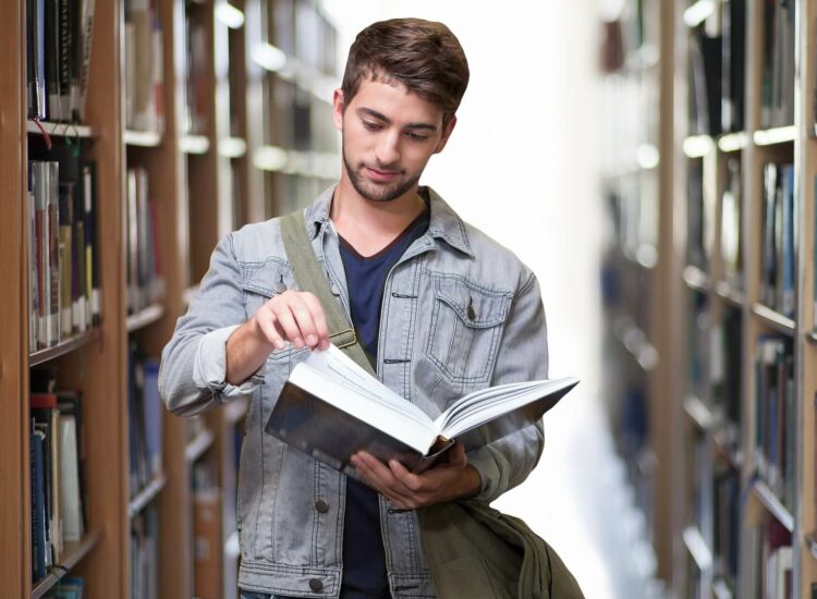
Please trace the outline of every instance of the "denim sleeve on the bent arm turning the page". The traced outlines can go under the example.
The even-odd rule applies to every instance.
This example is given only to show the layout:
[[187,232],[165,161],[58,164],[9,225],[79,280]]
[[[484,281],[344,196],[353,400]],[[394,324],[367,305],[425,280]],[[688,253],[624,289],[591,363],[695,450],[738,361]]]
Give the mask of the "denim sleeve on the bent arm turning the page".
[[216,246],[198,294],[162,351],[159,393],[171,412],[198,414],[252,393],[263,382],[260,369],[240,387],[224,380],[227,340],[246,320],[240,281],[233,237],[228,235]]

